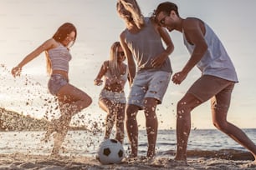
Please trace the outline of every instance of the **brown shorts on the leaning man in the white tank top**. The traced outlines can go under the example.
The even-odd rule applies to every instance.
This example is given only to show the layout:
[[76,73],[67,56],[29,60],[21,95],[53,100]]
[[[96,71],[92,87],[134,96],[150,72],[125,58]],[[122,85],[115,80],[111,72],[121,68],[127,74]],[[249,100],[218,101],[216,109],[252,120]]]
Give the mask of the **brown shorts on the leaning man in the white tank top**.
[[215,102],[212,103],[214,107],[228,111],[234,83],[220,77],[203,75],[192,84],[187,93],[191,93],[201,102],[215,97]]

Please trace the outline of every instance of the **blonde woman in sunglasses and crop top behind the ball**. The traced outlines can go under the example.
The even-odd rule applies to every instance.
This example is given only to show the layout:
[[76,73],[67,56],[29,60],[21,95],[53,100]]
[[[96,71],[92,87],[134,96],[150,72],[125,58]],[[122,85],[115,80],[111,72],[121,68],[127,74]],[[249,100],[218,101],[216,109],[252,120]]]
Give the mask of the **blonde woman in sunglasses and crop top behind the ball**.
[[107,112],[105,119],[105,139],[110,138],[112,128],[116,127],[115,139],[120,143],[124,140],[125,119],[125,82],[127,81],[127,66],[124,63],[125,53],[120,42],[114,42],[110,48],[110,60],[103,62],[100,72],[95,78],[95,85],[105,85],[100,92],[99,105]]

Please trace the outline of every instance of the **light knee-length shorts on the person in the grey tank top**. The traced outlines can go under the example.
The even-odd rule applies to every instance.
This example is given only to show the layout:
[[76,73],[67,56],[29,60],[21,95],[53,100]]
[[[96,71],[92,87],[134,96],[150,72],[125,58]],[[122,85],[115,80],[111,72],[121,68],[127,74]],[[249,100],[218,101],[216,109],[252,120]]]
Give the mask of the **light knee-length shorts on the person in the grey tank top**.
[[136,72],[131,91],[128,96],[128,104],[143,107],[146,97],[155,98],[161,104],[162,98],[171,79],[171,72],[140,71]]

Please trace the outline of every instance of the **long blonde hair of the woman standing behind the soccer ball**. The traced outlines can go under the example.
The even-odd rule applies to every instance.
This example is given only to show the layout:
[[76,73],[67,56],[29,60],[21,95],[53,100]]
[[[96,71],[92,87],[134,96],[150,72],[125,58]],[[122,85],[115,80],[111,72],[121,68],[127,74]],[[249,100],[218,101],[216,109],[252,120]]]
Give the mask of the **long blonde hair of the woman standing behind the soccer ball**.
[[110,47],[109,70],[110,70],[110,74],[113,75],[115,78],[119,78],[121,75],[121,72],[117,63],[118,47],[121,47],[120,42],[114,42]]

